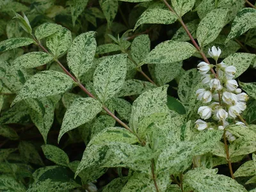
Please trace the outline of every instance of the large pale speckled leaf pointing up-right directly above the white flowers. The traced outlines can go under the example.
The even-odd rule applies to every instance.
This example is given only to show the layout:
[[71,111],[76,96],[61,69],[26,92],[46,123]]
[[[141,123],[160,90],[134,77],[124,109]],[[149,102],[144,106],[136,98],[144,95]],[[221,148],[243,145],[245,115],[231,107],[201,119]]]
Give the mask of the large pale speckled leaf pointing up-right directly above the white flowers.
[[198,24],[196,37],[200,47],[213,42],[226,24],[228,10],[216,9],[208,13]]

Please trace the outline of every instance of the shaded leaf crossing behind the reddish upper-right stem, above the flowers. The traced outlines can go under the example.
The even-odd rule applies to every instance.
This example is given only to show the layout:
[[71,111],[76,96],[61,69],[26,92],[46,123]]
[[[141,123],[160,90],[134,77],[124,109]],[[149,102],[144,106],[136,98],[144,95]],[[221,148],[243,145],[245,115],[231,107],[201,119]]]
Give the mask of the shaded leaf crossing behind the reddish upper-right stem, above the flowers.
[[[189,32],[191,33],[191,35],[193,36],[193,38],[196,38],[196,29],[197,26],[199,24],[198,19],[192,20],[188,23],[186,23],[186,26],[189,30]],[[172,37],[173,41],[179,41],[179,42],[187,42],[190,40],[188,33],[186,33],[185,29],[183,27],[180,27],[176,33],[173,35]]]

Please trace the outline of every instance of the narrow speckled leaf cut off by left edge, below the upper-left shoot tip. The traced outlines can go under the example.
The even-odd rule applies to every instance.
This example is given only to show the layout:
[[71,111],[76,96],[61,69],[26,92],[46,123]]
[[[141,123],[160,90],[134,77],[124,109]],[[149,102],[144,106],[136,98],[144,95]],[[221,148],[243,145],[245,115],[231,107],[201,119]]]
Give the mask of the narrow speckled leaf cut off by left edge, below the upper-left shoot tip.
[[17,47],[30,45],[33,43],[35,43],[34,40],[28,37],[9,38],[8,40],[0,42],[0,52],[15,49]]

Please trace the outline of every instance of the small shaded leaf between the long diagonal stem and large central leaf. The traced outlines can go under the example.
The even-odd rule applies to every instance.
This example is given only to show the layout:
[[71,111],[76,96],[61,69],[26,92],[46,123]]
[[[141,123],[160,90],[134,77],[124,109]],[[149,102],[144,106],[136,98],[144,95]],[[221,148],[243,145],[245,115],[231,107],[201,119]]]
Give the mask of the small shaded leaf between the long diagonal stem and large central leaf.
[[132,105],[125,99],[113,98],[111,102],[115,111],[121,116],[121,119],[129,121],[131,116]]

